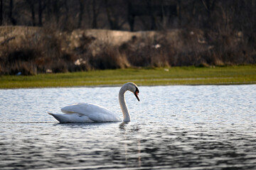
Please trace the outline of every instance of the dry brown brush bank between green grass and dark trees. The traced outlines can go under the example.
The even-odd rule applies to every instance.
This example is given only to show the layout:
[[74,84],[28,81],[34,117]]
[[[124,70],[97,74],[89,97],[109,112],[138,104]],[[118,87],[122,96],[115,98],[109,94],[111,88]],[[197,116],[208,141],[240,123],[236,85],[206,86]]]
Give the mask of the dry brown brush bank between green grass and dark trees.
[[127,32],[0,27],[0,74],[127,67],[255,64],[256,35],[202,30]]

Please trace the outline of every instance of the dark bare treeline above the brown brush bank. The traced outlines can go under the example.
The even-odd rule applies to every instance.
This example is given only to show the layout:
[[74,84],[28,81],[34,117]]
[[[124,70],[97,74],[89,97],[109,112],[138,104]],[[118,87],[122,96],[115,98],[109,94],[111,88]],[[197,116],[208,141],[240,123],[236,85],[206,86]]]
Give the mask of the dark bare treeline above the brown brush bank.
[[0,0],[0,26],[60,30],[201,28],[252,33],[255,8],[254,0]]

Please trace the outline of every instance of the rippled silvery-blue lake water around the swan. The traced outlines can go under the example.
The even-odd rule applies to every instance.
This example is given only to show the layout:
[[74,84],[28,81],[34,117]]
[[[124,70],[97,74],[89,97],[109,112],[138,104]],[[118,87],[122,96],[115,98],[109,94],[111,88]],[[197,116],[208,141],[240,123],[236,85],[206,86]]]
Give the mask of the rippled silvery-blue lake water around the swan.
[[130,123],[59,124],[76,102],[121,117],[119,87],[0,90],[1,169],[256,169],[256,85],[139,91]]

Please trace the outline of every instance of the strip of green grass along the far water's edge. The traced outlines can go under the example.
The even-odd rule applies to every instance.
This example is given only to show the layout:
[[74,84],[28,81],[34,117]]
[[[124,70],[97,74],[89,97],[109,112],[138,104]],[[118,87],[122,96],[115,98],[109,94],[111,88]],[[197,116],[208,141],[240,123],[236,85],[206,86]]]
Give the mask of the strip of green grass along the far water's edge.
[[1,76],[0,89],[64,86],[256,84],[256,66],[113,69],[36,76]]

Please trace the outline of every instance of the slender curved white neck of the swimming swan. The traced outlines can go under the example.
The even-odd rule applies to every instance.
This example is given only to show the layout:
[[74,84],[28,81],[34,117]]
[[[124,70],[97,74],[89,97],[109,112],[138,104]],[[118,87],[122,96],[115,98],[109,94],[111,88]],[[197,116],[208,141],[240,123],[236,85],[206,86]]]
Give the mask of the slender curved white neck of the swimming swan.
[[125,97],[124,94],[127,91],[127,89],[125,89],[124,87],[122,87],[119,91],[119,104],[124,116],[124,122],[129,122],[131,121],[131,116],[129,115],[129,111],[127,109],[127,105],[125,102]]

